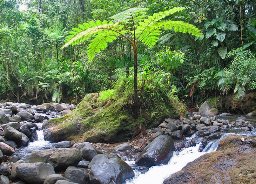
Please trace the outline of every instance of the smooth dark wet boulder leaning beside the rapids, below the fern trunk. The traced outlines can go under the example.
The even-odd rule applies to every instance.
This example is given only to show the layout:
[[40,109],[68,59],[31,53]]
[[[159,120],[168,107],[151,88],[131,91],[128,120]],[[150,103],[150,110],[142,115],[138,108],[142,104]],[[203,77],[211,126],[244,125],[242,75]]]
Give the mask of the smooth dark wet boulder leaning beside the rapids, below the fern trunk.
[[137,158],[136,164],[148,166],[167,164],[173,155],[173,150],[173,139],[170,136],[161,135],[146,146]]

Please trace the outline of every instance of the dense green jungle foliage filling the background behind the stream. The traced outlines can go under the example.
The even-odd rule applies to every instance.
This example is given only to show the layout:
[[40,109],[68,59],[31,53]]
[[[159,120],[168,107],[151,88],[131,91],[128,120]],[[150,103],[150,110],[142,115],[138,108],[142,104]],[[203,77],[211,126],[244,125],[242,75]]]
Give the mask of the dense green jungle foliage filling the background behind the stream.
[[[156,18],[176,7],[181,8],[160,22],[182,21],[200,34],[161,27],[136,45],[136,57],[135,45],[125,38],[135,38],[135,32],[106,43],[91,34],[61,49],[130,8],[144,12],[136,14],[137,26],[128,26],[138,36],[145,14]],[[0,97],[77,103],[88,93],[115,89],[130,97],[137,91],[140,100],[171,96],[188,104],[228,93],[242,98],[256,89],[255,8],[254,0],[0,0]]]

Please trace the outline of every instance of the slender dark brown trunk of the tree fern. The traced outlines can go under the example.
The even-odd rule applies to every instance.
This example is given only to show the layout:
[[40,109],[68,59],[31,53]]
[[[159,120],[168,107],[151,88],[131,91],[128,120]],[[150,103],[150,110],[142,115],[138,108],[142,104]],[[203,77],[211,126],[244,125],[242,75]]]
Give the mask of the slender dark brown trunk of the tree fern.
[[134,120],[138,119],[138,107],[139,107],[139,98],[138,98],[138,89],[137,89],[137,60],[138,60],[138,47],[135,45],[133,47],[133,58],[134,58]]

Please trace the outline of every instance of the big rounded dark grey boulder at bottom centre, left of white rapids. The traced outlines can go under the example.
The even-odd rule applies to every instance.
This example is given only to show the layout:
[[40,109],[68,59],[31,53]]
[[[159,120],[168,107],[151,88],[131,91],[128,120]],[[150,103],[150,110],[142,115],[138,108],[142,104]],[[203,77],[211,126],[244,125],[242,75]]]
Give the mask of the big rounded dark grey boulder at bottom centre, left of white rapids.
[[134,177],[133,169],[113,155],[98,154],[89,164],[92,184],[123,183]]

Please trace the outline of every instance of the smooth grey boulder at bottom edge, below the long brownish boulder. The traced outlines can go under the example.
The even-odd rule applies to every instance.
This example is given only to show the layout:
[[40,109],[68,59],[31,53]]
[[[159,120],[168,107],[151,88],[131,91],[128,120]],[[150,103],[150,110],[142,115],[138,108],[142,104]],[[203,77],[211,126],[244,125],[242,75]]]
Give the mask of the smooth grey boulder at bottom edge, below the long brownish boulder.
[[47,176],[55,174],[55,171],[48,163],[20,163],[16,167],[16,173],[26,183],[43,184]]

